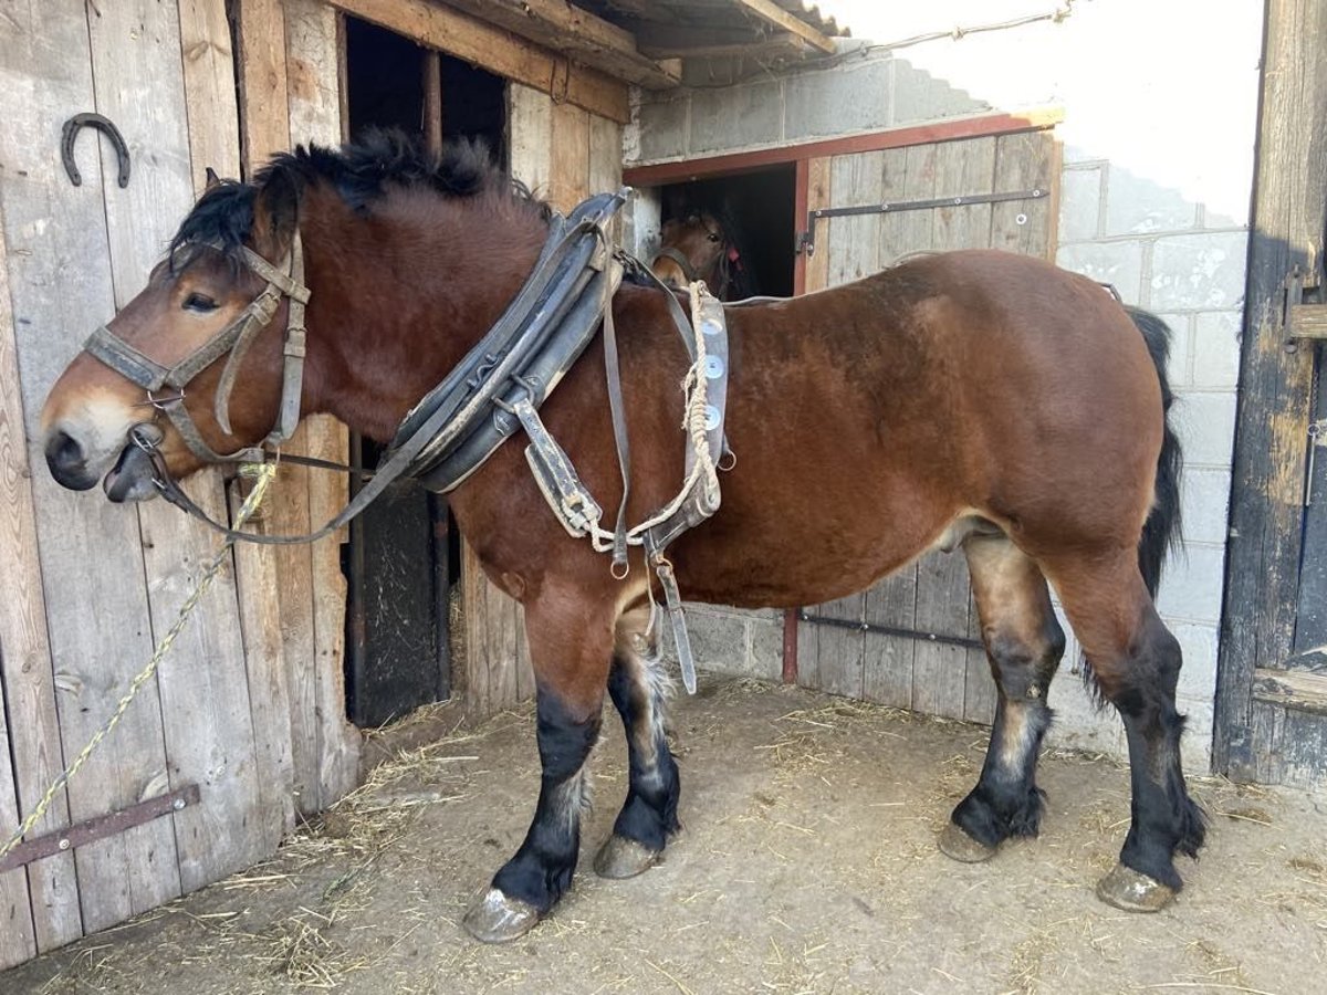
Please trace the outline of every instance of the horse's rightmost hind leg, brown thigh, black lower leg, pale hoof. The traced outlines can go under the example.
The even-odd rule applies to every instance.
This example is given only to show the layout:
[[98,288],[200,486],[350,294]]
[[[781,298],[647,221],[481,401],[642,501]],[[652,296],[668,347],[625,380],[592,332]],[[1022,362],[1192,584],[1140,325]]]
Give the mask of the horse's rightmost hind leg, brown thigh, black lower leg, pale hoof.
[[1204,819],[1180,765],[1184,718],[1176,711],[1180,643],[1161,622],[1132,549],[1042,560],[1092,666],[1124,719],[1132,821],[1120,862],[1097,896],[1128,911],[1162,909],[1182,882],[1176,852],[1197,856]]

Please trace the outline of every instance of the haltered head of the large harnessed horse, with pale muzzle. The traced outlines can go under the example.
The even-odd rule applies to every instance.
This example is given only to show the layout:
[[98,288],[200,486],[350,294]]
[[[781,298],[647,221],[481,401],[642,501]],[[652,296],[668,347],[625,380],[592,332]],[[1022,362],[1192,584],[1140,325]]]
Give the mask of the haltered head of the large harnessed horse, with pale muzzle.
[[[291,293],[307,296],[299,272],[287,275],[299,257],[300,187],[283,170],[260,174],[257,186],[208,172],[147,287],[46,397],[46,464],[64,487],[104,479],[113,501],[150,498],[153,448],[186,476],[257,443],[277,419]],[[303,329],[292,341],[303,352]]]

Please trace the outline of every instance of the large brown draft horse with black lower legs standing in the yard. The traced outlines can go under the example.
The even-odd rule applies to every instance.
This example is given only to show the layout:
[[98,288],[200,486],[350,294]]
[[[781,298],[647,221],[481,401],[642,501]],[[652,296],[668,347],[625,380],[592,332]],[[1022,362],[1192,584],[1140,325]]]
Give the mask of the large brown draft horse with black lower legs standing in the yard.
[[[299,150],[252,184],[210,188],[113,328],[154,360],[178,361],[261,288],[236,263],[242,244],[279,264],[299,230],[312,289],[303,411],[330,411],[386,440],[522,285],[547,216],[468,146],[441,161],[386,138]],[[640,521],[682,480],[678,385],[689,360],[661,291],[626,284],[613,309],[636,452],[629,511]],[[188,385],[212,447],[252,443],[272,426],[285,312],[283,300],[243,360],[232,434],[212,413],[222,364]],[[1181,886],[1174,854],[1196,853],[1204,823],[1180,765],[1180,645],[1151,596],[1178,509],[1164,325],[1047,263],[974,251],[734,309],[729,334],[738,462],[718,513],[670,549],[683,594],[815,604],[928,549],[962,548],[999,704],[981,779],[941,846],[981,860],[1035,834],[1042,816],[1035,765],[1064,647],[1050,581],[1128,732],[1132,825],[1099,894],[1132,910],[1165,905]],[[543,414],[604,507],[616,507],[602,370],[596,338]],[[151,411],[143,399],[92,356],[76,357],[42,414],[54,478],[73,488],[105,478],[121,500],[151,494],[137,479],[142,463],[123,458],[130,429]],[[162,448],[174,474],[198,468],[169,426]],[[533,821],[466,921],[486,941],[528,930],[571,884],[605,690],[626,727],[630,787],[596,870],[641,873],[678,828],[645,564],[633,551],[630,574],[614,580],[606,557],[555,519],[522,450],[503,446],[453,495],[484,570],[524,605],[539,689]]]

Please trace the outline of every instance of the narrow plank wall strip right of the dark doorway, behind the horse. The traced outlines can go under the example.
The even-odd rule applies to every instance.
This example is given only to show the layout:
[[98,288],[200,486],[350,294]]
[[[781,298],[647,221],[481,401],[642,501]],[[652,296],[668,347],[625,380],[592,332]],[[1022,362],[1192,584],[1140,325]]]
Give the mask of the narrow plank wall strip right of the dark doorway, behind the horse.
[[[508,84],[507,147],[512,175],[567,211],[622,183],[622,129],[543,90]],[[463,673],[454,674],[470,715],[488,715],[535,691],[520,606],[498,590],[468,547],[462,555]]]

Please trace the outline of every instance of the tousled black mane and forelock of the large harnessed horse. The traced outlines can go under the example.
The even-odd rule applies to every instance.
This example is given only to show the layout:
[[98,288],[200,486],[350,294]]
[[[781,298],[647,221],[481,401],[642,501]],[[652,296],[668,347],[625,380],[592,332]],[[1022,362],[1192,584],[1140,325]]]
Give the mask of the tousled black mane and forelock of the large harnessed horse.
[[[308,147],[301,145],[295,151],[280,153],[257,171],[252,183],[222,180],[211,187],[171,239],[171,267],[176,268],[182,249],[199,244],[219,245],[238,264],[239,248],[253,227],[259,191],[277,176],[289,179],[300,194],[309,186],[325,183],[357,212],[369,211],[390,187],[425,187],[453,198],[507,190],[529,202],[545,219],[549,210],[492,161],[482,141],[455,139],[441,153],[433,153],[403,131],[370,130],[340,149],[311,142]],[[183,265],[188,264],[188,255],[186,252],[179,260]]]

